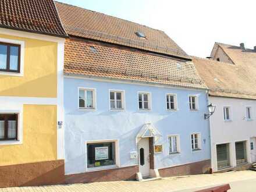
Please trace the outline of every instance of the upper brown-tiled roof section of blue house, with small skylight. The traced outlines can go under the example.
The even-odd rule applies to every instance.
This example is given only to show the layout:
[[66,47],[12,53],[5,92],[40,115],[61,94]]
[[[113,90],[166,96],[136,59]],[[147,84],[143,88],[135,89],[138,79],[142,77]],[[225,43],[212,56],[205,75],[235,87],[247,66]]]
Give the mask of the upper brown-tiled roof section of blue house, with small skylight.
[[[69,35],[190,59],[163,31],[65,3],[56,7]],[[138,31],[146,37],[138,37]]]

